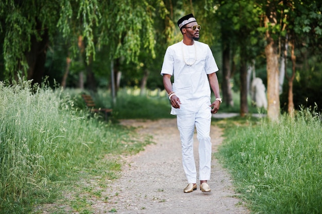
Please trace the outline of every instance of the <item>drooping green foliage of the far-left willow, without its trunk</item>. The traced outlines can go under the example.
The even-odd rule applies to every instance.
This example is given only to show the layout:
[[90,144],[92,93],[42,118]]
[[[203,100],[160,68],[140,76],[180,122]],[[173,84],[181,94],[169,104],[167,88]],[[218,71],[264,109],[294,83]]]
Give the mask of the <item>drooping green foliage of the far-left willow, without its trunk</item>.
[[[31,37],[35,36],[37,41],[42,40],[45,30],[48,30],[49,38],[52,40],[58,31],[70,40],[70,33],[84,34],[88,41],[93,41],[92,24],[97,20],[97,12],[94,12],[97,1],[6,1],[1,4],[0,10],[2,30],[5,32],[3,40],[5,70],[14,74],[16,70],[26,72],[28,69],[25,53],[32,48]],[[73,14],[74,13],[74,14]],[[82,17],[79,15],[82,14]],[[73,18],[83,18],[88,25],[78,25]],[[73,26],[74,24],[74,26]],[[71,26],[74,27],[71,30]],[[77,27],[77,29],[75,29]],[[88,54],[91,54],[93,44],[87,46]],[[19,62],[19,63],[17,63]],[[24,72],[22,74],[24,74]]]

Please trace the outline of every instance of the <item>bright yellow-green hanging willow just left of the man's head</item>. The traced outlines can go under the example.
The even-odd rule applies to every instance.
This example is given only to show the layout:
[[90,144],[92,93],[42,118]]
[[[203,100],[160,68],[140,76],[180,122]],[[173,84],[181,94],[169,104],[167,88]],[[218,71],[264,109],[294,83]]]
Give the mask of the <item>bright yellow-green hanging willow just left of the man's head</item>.
[[[98,47],[108,49],[112,74],[117,73],[120,63],[141,64],[139,55],[142,52],[154,59],[156,54],[153,24],[154,19],[159,18],[155,17],[155,10],[157,8],[160,11],[158,14],[164,17],[167,12],[164,2],[123,0],[106,1],[102,4],[104,8],[110,8],[110,12],[106,11],[101,16]],[[112,75],[112,85],[115,85],[115,77],[116,75]],[[112,95],[115,97],[115,92]]]

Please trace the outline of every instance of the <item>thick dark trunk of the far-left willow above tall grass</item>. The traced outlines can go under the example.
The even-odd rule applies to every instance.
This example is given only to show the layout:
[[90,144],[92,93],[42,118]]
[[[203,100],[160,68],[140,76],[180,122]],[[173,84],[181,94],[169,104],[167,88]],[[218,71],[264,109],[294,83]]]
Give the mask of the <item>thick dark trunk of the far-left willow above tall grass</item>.
[[[41,24],[37,22],[37,29],[40,29],[39,31],[42,30],[41,27]],[[35,35],[31,35],[30,50],[25,55],[29,67],[27,70],[27,80],[33,80],[32,84],[38,83],[41,85],[45,71],[49,35],[48,29],[44,29],[42,34],[41,32],[38,33],[40,34],[41,40],[38,41]]]

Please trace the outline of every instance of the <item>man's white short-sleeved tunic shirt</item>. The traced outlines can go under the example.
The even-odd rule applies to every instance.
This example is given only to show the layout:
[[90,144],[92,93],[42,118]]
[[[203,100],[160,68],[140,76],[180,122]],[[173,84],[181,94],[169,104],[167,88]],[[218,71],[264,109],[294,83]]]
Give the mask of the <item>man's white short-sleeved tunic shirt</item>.
[[161,75],[174,76],[172,90],[181,101],[180,108],[171,108],[171,114],[198,112],[202,104],[210,105],[210,86],[207,74],[218,71],[218,66],[207,44],[183,41],[168,47]]

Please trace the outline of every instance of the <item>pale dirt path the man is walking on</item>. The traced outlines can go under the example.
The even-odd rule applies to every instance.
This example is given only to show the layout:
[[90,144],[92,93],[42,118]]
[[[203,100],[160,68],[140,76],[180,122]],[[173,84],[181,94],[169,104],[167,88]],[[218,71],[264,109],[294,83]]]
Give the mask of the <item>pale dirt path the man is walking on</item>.
[[[184,193],[187,185],[182,168],[181,145],[175,119],[158,121],[126,120],[121,124],[139,127],[153,136],[156,144],[126,159],[120,179],[111,184],[111,203],[96,202],[96,213],[248,213],[236,197],[227,172],[212,159],[211,192]],[[222,131],[211,127],[213,152],[222,142]],[[195,136],[195,158],[198,141]],[[196,162],[198,168],[198,161]]]

